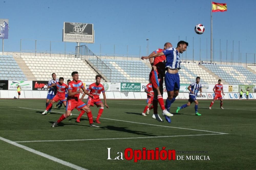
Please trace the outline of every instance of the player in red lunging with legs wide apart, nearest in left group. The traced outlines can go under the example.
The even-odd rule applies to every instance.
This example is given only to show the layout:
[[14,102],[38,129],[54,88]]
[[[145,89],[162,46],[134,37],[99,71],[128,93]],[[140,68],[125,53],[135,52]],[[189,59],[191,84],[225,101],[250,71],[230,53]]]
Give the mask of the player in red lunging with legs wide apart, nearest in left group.
[[[73,71],[71,74],[73,81],[70,81],[68,84],[68,102],[67,102],[67,107],[66,107],[66,113],[61,115],[60,118],[52,124],[52,127],[55,127],[58,123],[60,123],[62,120],[66,119],[67,117],[70,116],[71,111],[76,108],[77,110],[81,110],[81,113],[86,112],[88,119],[89,119],[89,124],[91,127],[99,127],[93,124],[93,119],[92,119],[92,112],[91,109],[84,104],[81,100],[79,100],[79,95],[80,93],[85,93],[89,96],[92,96],[91,94],[86,91],[86,89],[83,86],[83,82],[78,80],[78,72]],[[82,89],[82,90],[81,90]],[[93,97],[93,96],[92,96]]]

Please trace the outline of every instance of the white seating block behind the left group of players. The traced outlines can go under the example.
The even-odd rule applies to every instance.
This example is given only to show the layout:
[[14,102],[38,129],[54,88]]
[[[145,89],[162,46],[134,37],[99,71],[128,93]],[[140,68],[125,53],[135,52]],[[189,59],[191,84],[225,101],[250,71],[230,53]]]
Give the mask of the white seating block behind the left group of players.
[[49,81],[54,72],[57,77],[71,79],[72,71],[79,72],[81,81],[95,81],[95,72],[86,62],[80,58],[70,57],[50,57],[50,56],[26,56],[22,55],[24,60],[36,80]]

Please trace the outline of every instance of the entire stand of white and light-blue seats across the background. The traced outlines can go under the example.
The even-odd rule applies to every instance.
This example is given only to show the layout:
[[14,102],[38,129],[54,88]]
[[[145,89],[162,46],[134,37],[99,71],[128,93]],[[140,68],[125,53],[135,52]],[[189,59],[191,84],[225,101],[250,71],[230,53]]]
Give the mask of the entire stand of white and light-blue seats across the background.
[[[52,64],[53,61],[56,62]],[[111,82],[147,83],[151,66],[144,62],[106,58],[100,60],[98,57],[89,58],[86,61],[76,57],[22,55],[20,58],[14,58],[12,55],[3,55],[0,58],[0,78],[48,81],[51,79],[51,74],[55,72],[58,77],[71,79],[71,72],[77,70],[82,81],[95,81],[95,75],[101,74],[106,81]],[[245,68],[239,65],[202,64],[200,66],[195,63],[181,63],[181,68],[180,83],[194,82],[197,76],[201,77],[202,84],[215,84],[218,79],[221,79],[224,84],[256,83],[256,66]]]

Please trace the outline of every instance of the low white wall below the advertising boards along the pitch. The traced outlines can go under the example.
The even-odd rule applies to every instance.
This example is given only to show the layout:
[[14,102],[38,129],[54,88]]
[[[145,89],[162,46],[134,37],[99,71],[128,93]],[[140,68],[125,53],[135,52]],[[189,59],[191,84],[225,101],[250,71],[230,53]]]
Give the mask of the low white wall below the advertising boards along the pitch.
[[[112,92],[107,91],[107,99],[147,99],[147,94],[145,92]],[[17,90],[0,90],[1,99],[13,99],[17,97]],[[40,90],[24,90],[20,94],[20,99],[46,99],[47,91]],[[81,98],[82,94],[80,94]],[[188,99],[189,94],[187,92],[180,92],[176,99]],[[223,96],[223,95],[222,95]],[[223,99],[239,99],[239,93],[225,93]],[[88,96],[86,95],[85,98]],[[167,93],[164,92],[163,98],[167,98]],[[197,99],[213,99],[214,93],[202,93],[202,97],[199,95]],[[100,99],[103,99],[103,95],[100,94]],[[242,99],[246,99],[246,94],[243,94]],[[256,93],[249,93],[249,99],[256,99]]]

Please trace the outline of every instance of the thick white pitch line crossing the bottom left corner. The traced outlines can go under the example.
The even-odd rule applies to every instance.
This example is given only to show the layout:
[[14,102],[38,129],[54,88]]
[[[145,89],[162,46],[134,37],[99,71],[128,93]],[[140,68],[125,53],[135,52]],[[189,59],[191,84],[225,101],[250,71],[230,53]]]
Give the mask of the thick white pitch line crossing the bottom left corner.
[[0,140],[5,141],[5,142],[7,142],[7,143],[10,143],[10,144],[12,144],[12,145],[15,145],[15,146],[17,146],[17,147],[19,147],[19,148],[25,149],[25,150],[27,150],[27,151],[29,151],[29,152],[35,153],[35,154],[37,154],[37,155],[39,155],[39,156],[45,157],[45,158],[47,158],[47,159],[49,159],[49,160],[55,161],[55,162],[57,162],[57,163],[60,163],[60,164],[62,164],[62,165],[66,165],[66,166],[71,167],[71,168],[74,168],[74,169],[87,170],[87,169],[82,168],[82,167],[80,167],[80,166],[71,164],[71,163],[69,163],[69,162],[63,161],[63,160],[58,159],[58,158],[56,158],[56,157],[47,155],[47,154],[42,153],[42,152],[39,152],[39,151],[36,151],[36,150],[34,150],[34,149],[32,149],[32,148],[29,148],[29,147],[26,147],[26,146],[24,146],[24,145],[18,144],[18,143],[16,143],[16,142],[11,141],[11,140],[8,140],[8,139],[2,138],[2,137],[0,137]]

